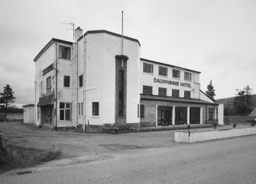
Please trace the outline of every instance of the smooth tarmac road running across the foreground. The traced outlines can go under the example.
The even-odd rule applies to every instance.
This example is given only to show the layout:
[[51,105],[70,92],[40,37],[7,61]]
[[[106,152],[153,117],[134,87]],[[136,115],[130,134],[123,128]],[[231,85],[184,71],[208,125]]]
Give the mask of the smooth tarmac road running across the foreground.
[[256,183],[256,135],[125,151],[89,163],[0,175],[1,183]]

